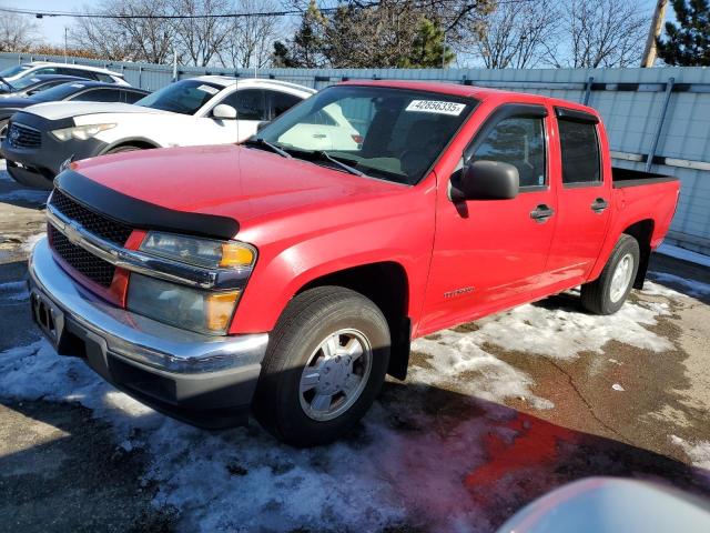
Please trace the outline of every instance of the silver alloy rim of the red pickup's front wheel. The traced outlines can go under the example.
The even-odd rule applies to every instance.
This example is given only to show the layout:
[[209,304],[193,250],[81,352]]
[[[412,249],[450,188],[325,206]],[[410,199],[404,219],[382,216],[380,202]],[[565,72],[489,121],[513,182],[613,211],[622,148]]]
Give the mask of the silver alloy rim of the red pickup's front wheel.
[[326,336],[301,374],[298,398],[312,420],[333,420],[353,406],[369,378],[373,351],[358,330],[343,329]]

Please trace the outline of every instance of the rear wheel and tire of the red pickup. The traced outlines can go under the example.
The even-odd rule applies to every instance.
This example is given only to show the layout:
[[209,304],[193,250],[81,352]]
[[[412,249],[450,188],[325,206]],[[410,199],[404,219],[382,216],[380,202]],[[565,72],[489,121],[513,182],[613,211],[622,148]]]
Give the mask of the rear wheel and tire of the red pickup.
[[640,258],[638,241],[621,235],[599,278],[581,285],[582,306],[595,314],[613,314],[621,309],[633,288]]

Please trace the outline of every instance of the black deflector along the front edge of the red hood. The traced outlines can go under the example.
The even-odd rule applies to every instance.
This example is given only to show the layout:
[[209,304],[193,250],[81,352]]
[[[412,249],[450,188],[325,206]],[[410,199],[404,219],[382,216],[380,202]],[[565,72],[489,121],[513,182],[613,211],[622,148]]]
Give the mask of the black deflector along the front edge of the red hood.
[[54,187],[91,211],[135,229],[213,239],[233,239],[240,231],[240,224],[229,217],[163,208],[110,189],[73,170],[61,172],[54,179]]

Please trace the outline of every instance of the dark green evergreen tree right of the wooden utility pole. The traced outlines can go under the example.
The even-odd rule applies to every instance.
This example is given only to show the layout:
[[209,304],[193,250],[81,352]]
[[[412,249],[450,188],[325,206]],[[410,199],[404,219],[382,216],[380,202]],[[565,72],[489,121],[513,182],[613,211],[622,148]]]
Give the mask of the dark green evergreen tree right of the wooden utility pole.
[[678,24],[666,22],[666,39],[658,39],[658,56],[681,67],[710,66],[710,4],[708,0],[672,0]]

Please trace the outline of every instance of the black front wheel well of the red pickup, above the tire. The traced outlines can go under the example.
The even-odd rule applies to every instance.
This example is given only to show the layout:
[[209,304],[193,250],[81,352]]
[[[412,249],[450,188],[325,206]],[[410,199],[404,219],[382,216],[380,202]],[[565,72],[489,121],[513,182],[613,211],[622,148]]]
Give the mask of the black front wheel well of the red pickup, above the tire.
[[315,278],[296,294],[323,285],[351,289],[371,299],[379,308],[389,326],[392,349],[387,373],[404,380],[409,364],[412,321],[407,315],[409,281],[405,268],[394,261],[352,266]]

